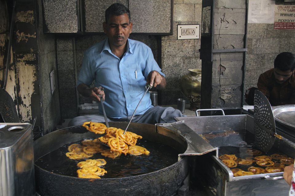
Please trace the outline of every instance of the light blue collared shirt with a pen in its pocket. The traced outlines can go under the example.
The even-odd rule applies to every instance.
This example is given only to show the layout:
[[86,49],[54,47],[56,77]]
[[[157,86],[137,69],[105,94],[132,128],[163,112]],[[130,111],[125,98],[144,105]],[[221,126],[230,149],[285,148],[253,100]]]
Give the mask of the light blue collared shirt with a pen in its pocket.
[[[94,44],[84,52],[77,86],[84,83],[104,87],[104,108],[112,118],[131,116],[146,91],[146,80],[152,71],[161,72],[151,49],[136,40],[127,41],[122,59],[114,55],[108,39]],[[100,111],[101,105],[99,104]],[[149,92],[144,96],[135,115],[144,114],[151,105]]]

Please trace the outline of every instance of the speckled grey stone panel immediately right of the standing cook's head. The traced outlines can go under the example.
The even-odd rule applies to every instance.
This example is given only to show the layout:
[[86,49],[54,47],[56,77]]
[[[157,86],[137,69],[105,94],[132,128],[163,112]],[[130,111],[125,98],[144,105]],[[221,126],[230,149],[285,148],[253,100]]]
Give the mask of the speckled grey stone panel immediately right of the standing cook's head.
[[133,32],[171,32],[171,0],[129,0],[128,3]]

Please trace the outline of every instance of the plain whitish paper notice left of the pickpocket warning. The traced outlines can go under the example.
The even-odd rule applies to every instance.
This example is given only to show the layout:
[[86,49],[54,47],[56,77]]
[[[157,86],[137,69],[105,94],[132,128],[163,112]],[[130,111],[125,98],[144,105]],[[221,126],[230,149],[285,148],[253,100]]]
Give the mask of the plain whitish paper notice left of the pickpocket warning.
[[249,0],[248,23],[273,24],[275,1]]

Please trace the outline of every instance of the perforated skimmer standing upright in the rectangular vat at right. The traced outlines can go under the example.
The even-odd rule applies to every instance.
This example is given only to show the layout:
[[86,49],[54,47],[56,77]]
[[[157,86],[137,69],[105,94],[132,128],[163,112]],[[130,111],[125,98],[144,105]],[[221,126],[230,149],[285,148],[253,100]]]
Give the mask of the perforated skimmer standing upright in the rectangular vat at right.
[[270,103],[259,90],[255,90],[254,94],[254,128],[254,144],[264,152],[268,152],[272,148],[276,137],[294,146],[292,142],[276,133],[276,126]]

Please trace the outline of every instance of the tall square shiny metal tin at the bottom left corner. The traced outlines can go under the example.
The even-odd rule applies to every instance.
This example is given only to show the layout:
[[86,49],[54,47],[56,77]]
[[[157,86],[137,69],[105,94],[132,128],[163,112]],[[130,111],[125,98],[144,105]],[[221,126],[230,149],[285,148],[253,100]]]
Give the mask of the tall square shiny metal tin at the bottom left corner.
[[35,195],[32,125],[0,123],[0,196]]

